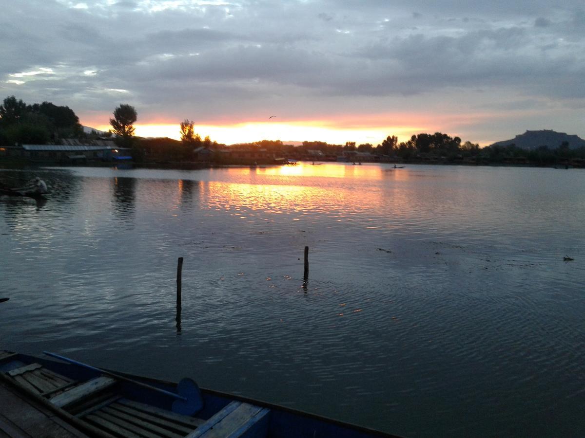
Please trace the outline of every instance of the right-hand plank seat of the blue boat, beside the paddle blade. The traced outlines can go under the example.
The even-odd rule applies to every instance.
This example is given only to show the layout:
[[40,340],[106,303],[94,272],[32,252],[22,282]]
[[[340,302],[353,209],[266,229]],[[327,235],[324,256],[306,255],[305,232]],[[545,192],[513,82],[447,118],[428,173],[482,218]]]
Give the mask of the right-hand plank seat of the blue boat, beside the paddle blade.
[[270,409],[233,401],[185,438],[266,436]]

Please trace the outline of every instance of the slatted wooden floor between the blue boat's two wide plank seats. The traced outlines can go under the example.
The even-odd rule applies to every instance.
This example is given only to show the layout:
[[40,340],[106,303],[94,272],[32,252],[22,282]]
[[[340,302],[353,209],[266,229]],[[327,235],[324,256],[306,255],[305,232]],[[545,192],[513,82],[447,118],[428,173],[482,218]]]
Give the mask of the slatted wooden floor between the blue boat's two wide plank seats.
[[205,420],[115,397],[76,415],[92,427],[113,436],[184,437]]

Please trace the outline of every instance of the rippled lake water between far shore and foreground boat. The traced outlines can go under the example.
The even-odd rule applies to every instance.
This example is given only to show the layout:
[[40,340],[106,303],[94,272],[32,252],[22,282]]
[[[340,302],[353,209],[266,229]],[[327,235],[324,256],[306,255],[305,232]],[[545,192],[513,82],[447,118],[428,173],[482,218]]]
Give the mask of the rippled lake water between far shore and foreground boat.
[[585,171],[0,180],[36,175],[46,203],[0,198],[4,349],[191,376],[404,436],[585,436]]

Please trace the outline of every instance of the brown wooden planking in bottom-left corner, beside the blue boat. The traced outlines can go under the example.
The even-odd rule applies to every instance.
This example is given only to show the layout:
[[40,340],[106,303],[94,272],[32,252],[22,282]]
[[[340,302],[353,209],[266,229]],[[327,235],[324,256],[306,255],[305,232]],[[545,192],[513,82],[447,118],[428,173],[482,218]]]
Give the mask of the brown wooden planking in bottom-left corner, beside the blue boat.
[[37,399],[0,378],[0,438],[87,438]]

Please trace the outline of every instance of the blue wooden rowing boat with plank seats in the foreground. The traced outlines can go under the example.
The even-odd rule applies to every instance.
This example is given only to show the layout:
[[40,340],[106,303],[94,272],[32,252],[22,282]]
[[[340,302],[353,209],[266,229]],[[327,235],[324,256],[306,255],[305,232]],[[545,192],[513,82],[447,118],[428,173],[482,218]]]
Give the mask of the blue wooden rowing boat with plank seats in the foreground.
[[390,437],[282,406],[67,361],[0,351],[0,380],[97,437]]

